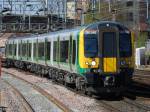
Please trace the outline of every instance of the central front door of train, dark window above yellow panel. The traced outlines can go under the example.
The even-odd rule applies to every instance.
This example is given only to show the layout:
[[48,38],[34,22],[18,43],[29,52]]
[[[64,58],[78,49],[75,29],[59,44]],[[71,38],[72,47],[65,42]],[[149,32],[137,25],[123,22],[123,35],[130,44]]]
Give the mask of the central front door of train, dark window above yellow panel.
[[119,34],[117,28],[99,28],[100,68],[104,74],[118,72]]

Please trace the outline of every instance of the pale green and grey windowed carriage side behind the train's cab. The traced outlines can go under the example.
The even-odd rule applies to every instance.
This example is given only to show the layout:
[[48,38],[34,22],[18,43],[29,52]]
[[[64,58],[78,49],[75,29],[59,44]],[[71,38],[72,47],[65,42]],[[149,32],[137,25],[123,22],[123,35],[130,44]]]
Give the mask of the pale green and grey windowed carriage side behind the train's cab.
[[77,73],[78,35],[79,31],[73,30],[72,32],[10,39],[6,43],[6,57]]

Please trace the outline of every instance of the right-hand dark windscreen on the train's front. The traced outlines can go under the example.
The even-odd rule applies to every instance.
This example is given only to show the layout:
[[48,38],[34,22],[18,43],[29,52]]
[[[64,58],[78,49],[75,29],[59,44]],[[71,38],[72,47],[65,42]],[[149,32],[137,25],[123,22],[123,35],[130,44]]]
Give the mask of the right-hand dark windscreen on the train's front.
[[120,57],[129,57],[132,55],[131,34],[119,34]]

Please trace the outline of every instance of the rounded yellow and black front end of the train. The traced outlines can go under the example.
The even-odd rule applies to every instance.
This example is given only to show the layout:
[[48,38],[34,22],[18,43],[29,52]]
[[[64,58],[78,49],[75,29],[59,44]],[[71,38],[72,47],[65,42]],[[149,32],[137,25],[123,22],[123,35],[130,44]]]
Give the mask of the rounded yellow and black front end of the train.
[[110,22],[96,23],[80,32],[79,71],[88,91],[125,90],[134,70],[133,38],[126,27]]

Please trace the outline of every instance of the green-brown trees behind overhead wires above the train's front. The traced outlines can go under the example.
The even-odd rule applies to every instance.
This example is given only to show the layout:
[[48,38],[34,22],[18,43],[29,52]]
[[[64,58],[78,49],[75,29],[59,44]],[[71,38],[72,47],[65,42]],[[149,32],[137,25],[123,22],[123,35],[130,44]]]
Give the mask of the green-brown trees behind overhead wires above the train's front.
[[[89,6],[89,9],[92,9]],[[111,4],[111,11],[109,12],[109,4],[108,2],[101,2],[100,4],[100,12],[99,12],[99,3],[96,3],[96,8],[95,10],[89,10],[86,14],[84,14],[84,21],[85,24],[92,23],[95,21],[99,20],[112,20],[112,10],[113,9],[118,9],[116,10],[117,15],[116,15],[116,21],[124,21],[124,17],[120,13],[120,5],[118,4]]]

